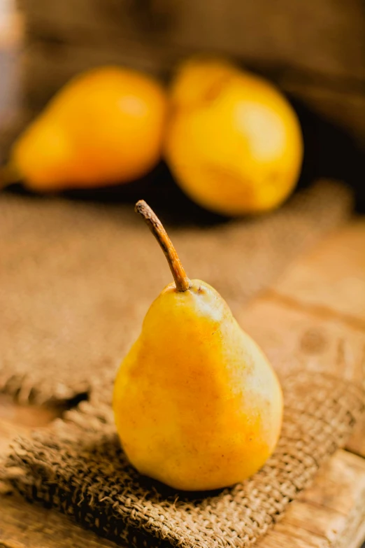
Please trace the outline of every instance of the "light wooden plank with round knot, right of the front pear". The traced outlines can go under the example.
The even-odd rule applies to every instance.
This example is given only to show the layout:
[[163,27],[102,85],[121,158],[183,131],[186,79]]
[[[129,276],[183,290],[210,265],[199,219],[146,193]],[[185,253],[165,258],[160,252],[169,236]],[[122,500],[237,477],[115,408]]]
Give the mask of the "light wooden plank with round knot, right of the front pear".
[[338,316],[318,316],[262,295],[236,317],[281,376],[305,366],[313,374],[364,380],[365,333]]

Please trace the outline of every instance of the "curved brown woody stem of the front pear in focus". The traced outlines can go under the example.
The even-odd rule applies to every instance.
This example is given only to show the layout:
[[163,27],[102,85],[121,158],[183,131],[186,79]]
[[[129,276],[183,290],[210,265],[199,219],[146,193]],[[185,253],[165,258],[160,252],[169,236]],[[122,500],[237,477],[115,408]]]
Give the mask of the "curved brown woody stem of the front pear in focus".
[[173,247],[171,239],[156,213],[152,211],[150,206],[146,204],[143,199],[140,199],[139,202],[136,203],[134,211],[144,218],[145,223],[159,242],[167,262],[169,262],[169,267],[176,283],[176,289],[178,291],[187,291],[191,285],[190,280],[185,273],[184,267],[180,262],[176,249]]

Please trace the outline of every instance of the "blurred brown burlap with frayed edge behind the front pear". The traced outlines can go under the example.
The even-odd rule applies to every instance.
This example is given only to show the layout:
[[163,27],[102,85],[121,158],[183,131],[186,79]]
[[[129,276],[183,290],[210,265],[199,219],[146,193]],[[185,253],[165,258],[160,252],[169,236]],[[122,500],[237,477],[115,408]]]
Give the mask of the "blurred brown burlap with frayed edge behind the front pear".
[[[350,192],[320,181],[282,209],[215,227],[171,227],[191,278],[233,312],[338,226]],[[109,398],[115,368],[171,274],[132,206],[0,197],[0,390],[20,402]],[[157,213],[159,211],[157,210]]]

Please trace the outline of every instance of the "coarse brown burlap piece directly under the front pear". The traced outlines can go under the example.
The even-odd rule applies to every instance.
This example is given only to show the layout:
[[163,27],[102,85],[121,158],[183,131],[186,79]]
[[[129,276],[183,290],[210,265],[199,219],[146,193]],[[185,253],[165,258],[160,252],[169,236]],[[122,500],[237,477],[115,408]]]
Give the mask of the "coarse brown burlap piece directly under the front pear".
[[110,407],[88,402],[52,433],[18,440],[6,477],[29,500],[130,546],[247,547],[345,443],[365,406],[363,391],[324,374],[298,372],[285,381],[284,394],[275,454],[243,484],[219,493],[194,498],[139,476],[120,449]]

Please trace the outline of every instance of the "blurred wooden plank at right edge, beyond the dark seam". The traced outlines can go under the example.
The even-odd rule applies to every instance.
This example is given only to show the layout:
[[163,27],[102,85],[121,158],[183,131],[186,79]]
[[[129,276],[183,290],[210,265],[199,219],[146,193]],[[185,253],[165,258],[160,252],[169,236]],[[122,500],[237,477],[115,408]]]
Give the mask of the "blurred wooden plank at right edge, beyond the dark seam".
[[365,331],[365,219],[334,232],[280,277],[273,291]]

